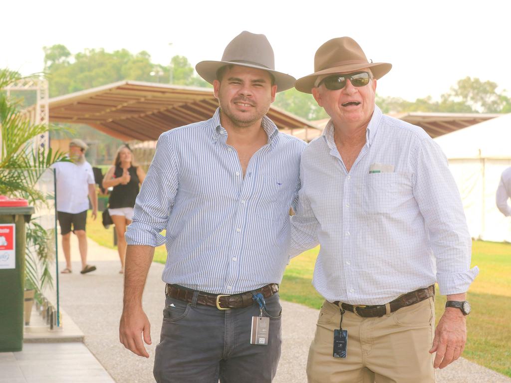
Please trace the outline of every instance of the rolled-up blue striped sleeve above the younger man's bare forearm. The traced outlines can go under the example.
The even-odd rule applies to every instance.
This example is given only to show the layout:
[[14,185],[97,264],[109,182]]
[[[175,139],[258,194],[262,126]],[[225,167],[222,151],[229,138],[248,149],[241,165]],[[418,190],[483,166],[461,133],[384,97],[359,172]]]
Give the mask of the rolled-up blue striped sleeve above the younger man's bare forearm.
[[126,228],[128,245],[160,246],[165,237],[160,232],[166,228],[174,205],[179,180],[177,156],[170,132],[158,138],[147,176],[136,197],[133,222]]

